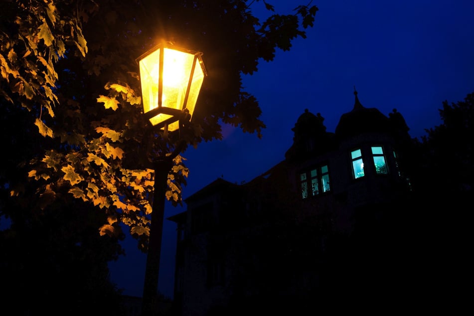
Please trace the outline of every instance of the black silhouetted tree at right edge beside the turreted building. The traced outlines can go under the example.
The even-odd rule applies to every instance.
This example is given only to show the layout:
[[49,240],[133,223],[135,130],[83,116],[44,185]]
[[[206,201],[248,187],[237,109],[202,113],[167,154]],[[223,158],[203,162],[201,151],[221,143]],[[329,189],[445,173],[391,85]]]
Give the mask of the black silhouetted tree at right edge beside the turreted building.
[[[443,123],[426,129],[412,152],[410,248],[414,281],[419,282],[414,286],[423,286],[432,297],[443,295],[442,300],[445,289],[454,289],[451,298],[464,300],[456,285],[470,271],[474,93],[457,103],[444,101],[439,112]],[[439,271],[436,280],[431,271]]]

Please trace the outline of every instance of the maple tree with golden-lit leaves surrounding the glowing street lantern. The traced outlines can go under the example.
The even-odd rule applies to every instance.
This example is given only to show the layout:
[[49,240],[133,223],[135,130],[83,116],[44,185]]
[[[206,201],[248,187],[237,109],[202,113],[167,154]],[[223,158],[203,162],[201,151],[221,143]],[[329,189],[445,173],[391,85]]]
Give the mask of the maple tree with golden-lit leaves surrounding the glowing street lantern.
[[[260,4],[274,11],[263,0],[4,1],[2,119],[11,126],[14,114],[24,123],[11,151],[19,142],[34,147],[10,161],[20,176],[6,169],[1,174],[3,197],[10,196],[2,214],[12,217],[12,205],[32,196],[32,207],[44,211],[59,193],[70,195],[107,215],[102,235],[119,236],[124,223],[146,249],[150,160],[172,149],[176,139],[162,144],[159,132],[144,128],[136,58],[157,39],[205,53],[209,76],[187,139],[192,146],[221,139],[222,123],[261,137],[261,110],[243,91],[241,75],[257,71],[261,59],[273,60],[277,48],[289,50],[293,39],[306,37],[317,8],[310,2],[261,23],[252,13]],[[178,156],[168,175],[167,197],[174,203],[181,202],[187,172]]]

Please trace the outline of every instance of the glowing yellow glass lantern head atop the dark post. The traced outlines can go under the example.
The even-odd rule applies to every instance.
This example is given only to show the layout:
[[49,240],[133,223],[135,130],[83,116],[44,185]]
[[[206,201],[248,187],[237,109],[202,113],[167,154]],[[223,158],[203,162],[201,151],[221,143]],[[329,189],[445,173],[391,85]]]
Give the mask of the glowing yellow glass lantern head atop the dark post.
[[201,54],[159,46],[144,56],[139,61],[144,113],[153,125],[176,130],[181,111],[194,112],[206,75]]

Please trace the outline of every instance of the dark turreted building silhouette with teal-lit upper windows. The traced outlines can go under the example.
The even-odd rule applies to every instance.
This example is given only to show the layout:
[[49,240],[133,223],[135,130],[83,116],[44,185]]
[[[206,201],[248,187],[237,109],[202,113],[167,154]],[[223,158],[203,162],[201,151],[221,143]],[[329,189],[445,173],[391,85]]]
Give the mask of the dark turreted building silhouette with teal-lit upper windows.
[[283,161],[240,185],[218,178],[168,218],[175,315],[408,304],[409,128],[354,95],[334,133],[305,110]]

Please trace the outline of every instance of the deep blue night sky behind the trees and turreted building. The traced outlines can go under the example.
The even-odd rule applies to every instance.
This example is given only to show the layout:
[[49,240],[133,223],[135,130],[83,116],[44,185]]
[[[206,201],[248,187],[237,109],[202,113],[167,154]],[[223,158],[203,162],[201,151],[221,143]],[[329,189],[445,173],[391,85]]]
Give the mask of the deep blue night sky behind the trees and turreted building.
[[[297,0],[268,0],[291,10]],[[302,1],[301,3],[306,3]],[[353,87],[366,108],[387,115],[398,110],[410,135],[441,123],[442,102],[462,101],[474,92],[474,1],[318,0],[315,26],[290,51],[243,80],[255,95],[267,125],[263,138],[224,126],[224,139],[182,153],[190,169],[186,198],[218,177],[249,181],[283,160],[293,143],[298,117],[309,109],[334,132],[354,105]],[[254,6],[261,3],[254,3]],[[204,63],[206,54],[204,52]],[[212,72],[212,69],[207,69]],[[166,205],[165,217],[185,211]],[[165,220],[158,289],[172,298],[175,224]],[[124,243],[127,257],[111,264],[111,277],[124,294],[142,296],[146,255],[135,241]]]

